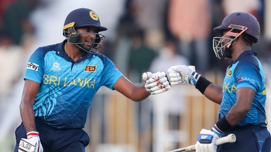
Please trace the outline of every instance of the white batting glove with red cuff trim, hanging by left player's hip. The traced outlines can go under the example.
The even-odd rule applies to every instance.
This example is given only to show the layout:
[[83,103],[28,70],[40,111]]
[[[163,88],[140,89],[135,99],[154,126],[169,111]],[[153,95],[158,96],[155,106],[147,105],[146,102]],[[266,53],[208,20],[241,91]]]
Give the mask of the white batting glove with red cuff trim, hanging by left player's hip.
[[39,132],[28,132],[27,139],[22,138],[20,140],[18,152],[43,152],[43,147],[39,139]]

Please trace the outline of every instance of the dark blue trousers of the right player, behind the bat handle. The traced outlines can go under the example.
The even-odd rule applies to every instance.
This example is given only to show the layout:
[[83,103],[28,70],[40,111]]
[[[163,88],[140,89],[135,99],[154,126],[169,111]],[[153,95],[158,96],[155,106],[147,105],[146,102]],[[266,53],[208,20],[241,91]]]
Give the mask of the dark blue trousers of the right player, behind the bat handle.
[[225,132],[222,137],[233,133],[234,143],[217,147],[217,152],[271,152],[271,136],[266,127],[246,125]]

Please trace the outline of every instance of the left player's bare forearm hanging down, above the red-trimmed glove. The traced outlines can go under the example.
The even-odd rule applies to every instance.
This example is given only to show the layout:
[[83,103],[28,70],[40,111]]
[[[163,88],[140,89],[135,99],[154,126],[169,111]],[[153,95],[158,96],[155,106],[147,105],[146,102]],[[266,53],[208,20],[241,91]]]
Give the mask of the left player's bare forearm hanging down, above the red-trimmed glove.
[[26,129],[26,132],[37,131],[35,124],[35,115],[33,110],[33,105],[24,104],[21,102],[20,104],[20,114],[21,119]]

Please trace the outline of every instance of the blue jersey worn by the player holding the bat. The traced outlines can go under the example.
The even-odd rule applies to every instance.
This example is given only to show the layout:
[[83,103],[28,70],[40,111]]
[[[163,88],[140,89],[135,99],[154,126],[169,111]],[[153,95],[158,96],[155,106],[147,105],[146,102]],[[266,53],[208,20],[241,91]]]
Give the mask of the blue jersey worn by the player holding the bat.
[[223,99],[219,119],[223,118],[235,103],[236,90],[245,87],[253,89],[256,94],[251,109],[237,125],[267,126],[265,112],[266,77],[262,64],[256,55],[257,53],[253,51],[245,51],[228,67],[223,82]]

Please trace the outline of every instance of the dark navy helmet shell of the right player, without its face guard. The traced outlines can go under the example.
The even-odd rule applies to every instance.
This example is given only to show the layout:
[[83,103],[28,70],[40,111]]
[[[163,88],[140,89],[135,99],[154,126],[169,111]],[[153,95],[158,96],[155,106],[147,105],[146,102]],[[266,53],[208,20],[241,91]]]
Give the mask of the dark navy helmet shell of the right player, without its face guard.
[[260,36],[260,25],[258,20],[251,14],[246,12],[234,12],[224,18],[219,27],[214,28],[215,32],[223,35],[223,31],[229,30],[230,25],[238,25],[247,27],[244,32],[255,38],[256,43]]

